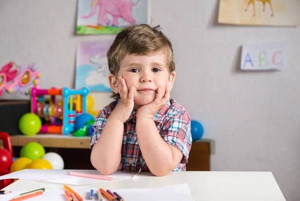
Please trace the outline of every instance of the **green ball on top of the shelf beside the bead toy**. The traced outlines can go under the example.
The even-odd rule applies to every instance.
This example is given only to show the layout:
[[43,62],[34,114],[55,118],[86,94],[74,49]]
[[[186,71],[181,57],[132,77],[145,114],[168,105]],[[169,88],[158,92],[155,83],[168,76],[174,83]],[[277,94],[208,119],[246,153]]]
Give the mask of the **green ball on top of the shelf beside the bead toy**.
[[34,135],[41,128],[41,120],[35,113],[25,113],[20,117],[18,127],[24,135]]

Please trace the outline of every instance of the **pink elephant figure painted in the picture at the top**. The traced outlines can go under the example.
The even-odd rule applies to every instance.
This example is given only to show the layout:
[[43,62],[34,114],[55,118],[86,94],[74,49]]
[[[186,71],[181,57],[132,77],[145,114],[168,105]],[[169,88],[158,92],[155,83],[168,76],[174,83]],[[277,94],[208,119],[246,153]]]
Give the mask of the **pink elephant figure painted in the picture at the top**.
[[94,15],[98,6],[98,25],[109,24],[109,20],[106,17],[107,13],[112,15],[112,26],[118,25],[118,17],[122,17],[133,24],[135,19],[132,16],[132,6],[136,5],[138,1],[139,0],[133,3],[132,0],[93,0],[90,5],[91,9],[89,14],[81,16],[81,18],[89,18]]

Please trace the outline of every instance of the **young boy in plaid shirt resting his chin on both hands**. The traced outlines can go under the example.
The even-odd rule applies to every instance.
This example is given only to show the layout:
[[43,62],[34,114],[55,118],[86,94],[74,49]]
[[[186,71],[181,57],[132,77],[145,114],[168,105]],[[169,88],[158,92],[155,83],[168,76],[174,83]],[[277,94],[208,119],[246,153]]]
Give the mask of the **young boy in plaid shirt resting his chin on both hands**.
[[124,27],[107,51],[115,100],[99,111],[90,141],[90,160],[101,174],[150,170],[162,176],[185,170],[190,116],[170,99],[173,50],[158,28]]

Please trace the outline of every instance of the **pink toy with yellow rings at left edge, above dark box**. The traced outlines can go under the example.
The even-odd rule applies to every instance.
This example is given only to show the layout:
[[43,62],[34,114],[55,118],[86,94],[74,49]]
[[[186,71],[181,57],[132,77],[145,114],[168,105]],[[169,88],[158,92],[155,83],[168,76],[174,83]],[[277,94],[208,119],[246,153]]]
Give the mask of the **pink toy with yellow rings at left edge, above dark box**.
[[[16,69],[11,69],[13,65]],[[0,69],[0,96],[3,89],[9,93],[19,91],[21,94],[28,94],[29,87],[38,87],[40,76],[41,74],[34,69],[34,63],[18,66],[9,62]]]

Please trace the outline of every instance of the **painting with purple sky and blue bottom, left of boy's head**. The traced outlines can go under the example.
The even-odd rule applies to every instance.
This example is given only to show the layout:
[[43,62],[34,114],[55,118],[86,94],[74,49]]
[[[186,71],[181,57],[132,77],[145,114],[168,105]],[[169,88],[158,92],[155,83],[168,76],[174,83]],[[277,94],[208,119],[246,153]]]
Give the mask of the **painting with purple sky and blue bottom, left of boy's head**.
[[80,41],[77,46],[75,88],[111,91],[106,52],[112,40]]

